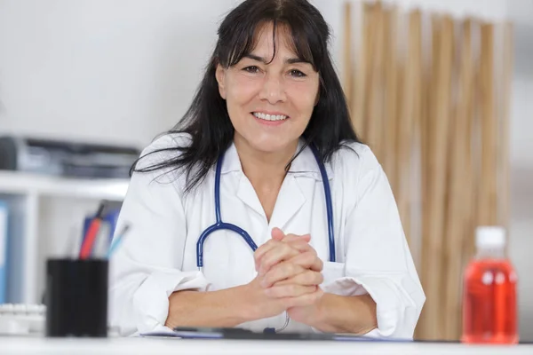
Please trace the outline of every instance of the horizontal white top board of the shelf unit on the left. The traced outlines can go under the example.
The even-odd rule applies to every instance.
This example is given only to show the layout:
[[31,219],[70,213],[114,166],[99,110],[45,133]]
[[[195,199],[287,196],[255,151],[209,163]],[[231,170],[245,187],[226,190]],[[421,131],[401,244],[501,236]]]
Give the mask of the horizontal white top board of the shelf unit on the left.
[[0,171],[0,193],[32,194],[122,201],[128,179],[83,179],[52,177],[15,171]]

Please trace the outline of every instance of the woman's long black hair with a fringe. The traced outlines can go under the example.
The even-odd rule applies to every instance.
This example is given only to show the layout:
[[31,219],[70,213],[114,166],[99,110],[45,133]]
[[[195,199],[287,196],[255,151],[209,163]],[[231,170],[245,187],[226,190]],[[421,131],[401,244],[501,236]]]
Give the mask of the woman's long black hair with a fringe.
[[322,162],[328,162],[345,142],[359,142],[330,58],[330,28],[322,14],[307,0],[245,0],[220,24],[219,40],[195,98],[181,121],[167,132],[187,133],[191,138],[189,144],[151,152],[174,151],[176,154],[142,168],[138,160],[131,167],[131,173],[183,168],[182,171],[187,172],[186,192],[203,181],[219,155],[231,145],[235,132],[226,101],[219,94],[216,69],[218,65],[235,66],[250,54],[258,41],[258,28],[266,23],[274,24],[273,36],[277,26],[288,26],[298,59],[309,62],[320,77],[319,99],[303,133],[304,147],[314,145]]

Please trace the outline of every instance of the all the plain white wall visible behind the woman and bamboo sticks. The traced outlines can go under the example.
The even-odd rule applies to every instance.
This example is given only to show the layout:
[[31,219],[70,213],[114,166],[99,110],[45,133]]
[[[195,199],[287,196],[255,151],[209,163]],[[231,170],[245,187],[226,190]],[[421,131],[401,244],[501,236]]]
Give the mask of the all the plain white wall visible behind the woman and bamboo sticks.
[[[517,26],[510,252],[533,340],[533,1],[389,0]],[[238,0],[0,0],[0,133],[147,145],[185,112]],[[314,0],[340,59],[340,0]],[[111,125],[118,129],[111,130]]]

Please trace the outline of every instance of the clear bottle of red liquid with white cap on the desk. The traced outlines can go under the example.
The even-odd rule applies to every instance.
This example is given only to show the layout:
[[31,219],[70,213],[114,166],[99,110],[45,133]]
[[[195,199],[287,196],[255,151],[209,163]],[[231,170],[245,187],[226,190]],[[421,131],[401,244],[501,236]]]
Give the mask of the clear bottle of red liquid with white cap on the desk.
[[505,256],[505,230],[482,226],[464,277],[463,343],[518,343],[516,282]]

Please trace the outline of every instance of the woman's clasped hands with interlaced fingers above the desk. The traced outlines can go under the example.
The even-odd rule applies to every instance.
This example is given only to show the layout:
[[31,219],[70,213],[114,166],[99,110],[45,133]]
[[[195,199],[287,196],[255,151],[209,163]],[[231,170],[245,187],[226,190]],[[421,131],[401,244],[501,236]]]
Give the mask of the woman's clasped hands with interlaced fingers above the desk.
[[289,312],[292,319],[304,321],[323,295],[322,260],[309,245],[309,234],[285,235],[274,228],[272,239],[254,255],[258,276],[251,281],[256,317],[267,318]]

